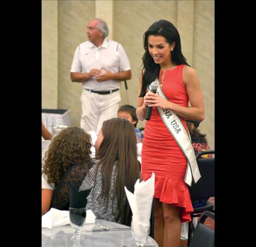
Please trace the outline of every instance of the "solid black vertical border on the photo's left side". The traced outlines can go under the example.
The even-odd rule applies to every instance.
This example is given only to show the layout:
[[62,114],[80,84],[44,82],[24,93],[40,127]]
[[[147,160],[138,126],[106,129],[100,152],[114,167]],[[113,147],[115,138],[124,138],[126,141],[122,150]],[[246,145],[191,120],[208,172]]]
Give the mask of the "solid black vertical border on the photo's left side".
[[41,246],[41,1],[1,3],[1,225]]

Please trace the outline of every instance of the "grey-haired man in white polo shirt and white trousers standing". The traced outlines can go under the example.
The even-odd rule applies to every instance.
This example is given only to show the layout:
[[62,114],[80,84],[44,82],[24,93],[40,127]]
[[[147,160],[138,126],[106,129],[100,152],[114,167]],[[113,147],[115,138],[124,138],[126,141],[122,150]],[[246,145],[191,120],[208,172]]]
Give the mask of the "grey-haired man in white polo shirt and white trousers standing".
[[82,83],[81,128],[99,132],[105,120],[117,117],[121,81],[130,79],[130,63],[121,44],[107,39],[105,21],[93,18],[87,25],[88,41],[75,51],[70,78]]

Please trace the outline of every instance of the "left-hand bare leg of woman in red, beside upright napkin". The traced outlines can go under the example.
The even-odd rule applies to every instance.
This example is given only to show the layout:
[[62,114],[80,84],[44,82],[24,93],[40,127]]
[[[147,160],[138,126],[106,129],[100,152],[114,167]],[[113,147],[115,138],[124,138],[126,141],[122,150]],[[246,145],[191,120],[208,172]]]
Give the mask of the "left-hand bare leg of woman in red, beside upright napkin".
[[154,239],[159,247],[164,246],[164,218],[163,206],[159,199],[154,199]]

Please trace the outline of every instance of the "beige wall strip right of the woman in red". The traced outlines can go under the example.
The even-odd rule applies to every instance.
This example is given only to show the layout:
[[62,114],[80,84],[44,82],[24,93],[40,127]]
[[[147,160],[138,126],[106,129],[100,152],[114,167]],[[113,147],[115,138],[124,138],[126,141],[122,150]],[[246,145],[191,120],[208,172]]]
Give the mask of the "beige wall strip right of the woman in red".
[[197,70],[205,100],[205,120],[200,130],[215,147],[215,29],[214,1],[194,1],[193,67]]

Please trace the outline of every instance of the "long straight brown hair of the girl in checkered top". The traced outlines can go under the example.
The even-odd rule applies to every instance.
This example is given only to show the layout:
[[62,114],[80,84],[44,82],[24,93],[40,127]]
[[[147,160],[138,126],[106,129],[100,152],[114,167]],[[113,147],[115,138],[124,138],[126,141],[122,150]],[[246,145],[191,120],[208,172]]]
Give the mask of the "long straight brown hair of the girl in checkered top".
[[100,196],[106,199],[106,205],[108,205],[111,175],[116,166],[117,175],[114,183],[118,208],[116,221],[122,218],[122,224],[130,225],[132,213],[129,202],[124,201],[124,186],[130,192],[134,192],[134,184],[141,177],[134,126],[127,119],[114,118],[103,122],[102,134],[103,141],[96,156],[99,160],[97,171],[100,169],[102,172]]

